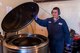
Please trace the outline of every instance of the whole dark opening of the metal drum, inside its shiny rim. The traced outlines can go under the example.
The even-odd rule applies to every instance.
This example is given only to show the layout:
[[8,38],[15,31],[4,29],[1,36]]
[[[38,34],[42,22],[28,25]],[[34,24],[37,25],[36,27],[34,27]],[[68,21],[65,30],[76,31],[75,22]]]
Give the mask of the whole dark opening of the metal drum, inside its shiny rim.
[[42,35],[12,35],[6,39],[6,43],[15,46],[35,46],[47,41],[47,38]]

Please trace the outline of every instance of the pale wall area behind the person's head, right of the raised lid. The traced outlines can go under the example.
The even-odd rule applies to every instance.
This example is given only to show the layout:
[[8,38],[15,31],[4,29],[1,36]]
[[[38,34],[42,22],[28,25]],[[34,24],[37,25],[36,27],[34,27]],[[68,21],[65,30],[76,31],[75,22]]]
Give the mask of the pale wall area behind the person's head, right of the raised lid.
[[74,29],[80,34],[80,3],[79,0],[72,1],[55,1],[38,3],[40,11],[38,16],[41,19],[51,17],[50,13],[53,7],[59,7],[61,10],[61,17],[66,20],[69,29]]

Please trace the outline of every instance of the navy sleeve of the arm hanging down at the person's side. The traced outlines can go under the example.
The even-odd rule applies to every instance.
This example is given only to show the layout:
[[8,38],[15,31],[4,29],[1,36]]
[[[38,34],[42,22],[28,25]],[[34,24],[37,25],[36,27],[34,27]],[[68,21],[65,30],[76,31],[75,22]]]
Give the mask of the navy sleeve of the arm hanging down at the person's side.
[[69,29],[68,29],[67,23],[65,21],[63,22],[63,31],[64,31],[65,43],[71,44]]

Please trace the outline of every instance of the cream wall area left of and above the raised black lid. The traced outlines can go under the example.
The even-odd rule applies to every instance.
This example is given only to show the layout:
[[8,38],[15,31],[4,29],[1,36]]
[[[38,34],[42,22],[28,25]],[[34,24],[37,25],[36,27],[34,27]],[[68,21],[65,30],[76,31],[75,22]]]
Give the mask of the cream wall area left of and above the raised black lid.
[[16,7],[19,4],[22,4],[24,2],[30,2],[33,0],[0,0],[0,32],[3,34],[2,28],[1,28],[1,22],[3,18],[6,16],[6,14]]

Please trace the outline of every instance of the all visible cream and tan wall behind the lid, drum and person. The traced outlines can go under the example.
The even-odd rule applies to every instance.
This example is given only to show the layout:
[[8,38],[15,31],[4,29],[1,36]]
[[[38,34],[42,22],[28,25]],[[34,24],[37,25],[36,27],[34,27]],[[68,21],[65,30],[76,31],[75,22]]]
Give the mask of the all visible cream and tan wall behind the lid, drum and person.
[[[11,10],[12,8],[16,7],[17,5],[28,2],[32,0],[0,0],[0,24],[2,19],[5,15]],[[38,16],[41,19],[46,19],[51,17],[51,10],[53,7],[58,6],[61,9],[61,17],[66,20],[69,28],[76,30],[77,33],[80,34],[80,3],[79,0],[72,0],[72,1],[55,1],[55,2],[43,2],[38,3],[39,5],[39,13]],[[33,27],[33,28],[32,28]],[[22,32],[23,31],[23,32]],[[25,31],[25,32],[24,32]],[[34,31],[34,32],[33,32]],[[0,32],[3,31],[0,27]],[[39,26],[35,21],[31,23],[27,28],[24,28],[20,31],[20,33],[35,33],[35,34],[42,34],[47,35],[47,30],[45,27]]]

